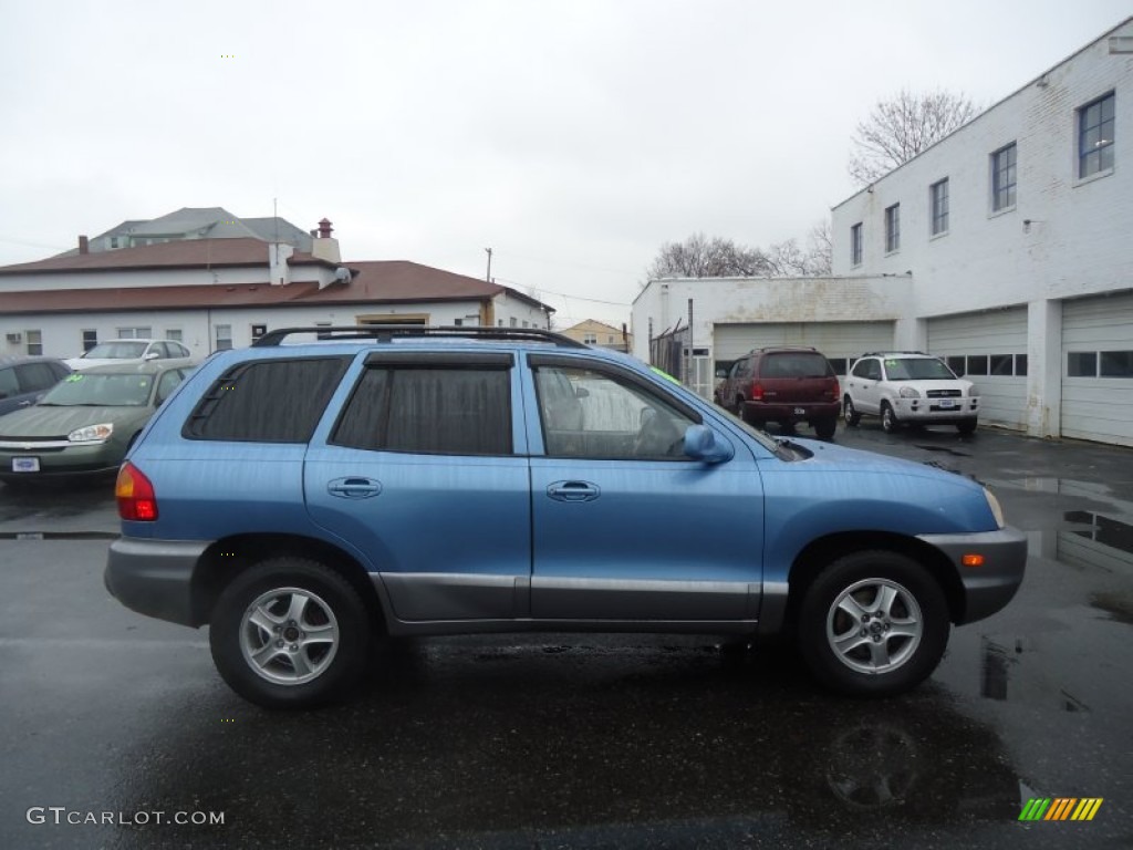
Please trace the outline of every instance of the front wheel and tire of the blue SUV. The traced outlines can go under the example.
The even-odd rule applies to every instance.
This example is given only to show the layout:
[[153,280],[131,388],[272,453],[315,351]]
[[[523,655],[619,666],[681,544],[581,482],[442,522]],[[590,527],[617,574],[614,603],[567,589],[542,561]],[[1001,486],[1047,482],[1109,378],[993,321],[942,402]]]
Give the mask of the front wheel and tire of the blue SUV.
[[906,555],[864,551],[823,570],[799,610],[799,649],[818,681],[852,696],[900,694],[927,679],[948,643],[948,605]]

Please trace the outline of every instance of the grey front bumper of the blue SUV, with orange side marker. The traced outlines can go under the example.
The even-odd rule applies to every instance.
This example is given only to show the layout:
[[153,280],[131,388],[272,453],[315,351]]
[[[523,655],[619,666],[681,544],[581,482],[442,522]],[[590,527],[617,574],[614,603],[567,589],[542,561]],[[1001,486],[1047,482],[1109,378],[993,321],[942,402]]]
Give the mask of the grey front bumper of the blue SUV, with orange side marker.
[[[1015,528],[978,534],[922,534],[918,539],[943,552],[964,587],[963,611],[957,623],[974,622],[1003,609],[1023,583],[1026,537]],[[963,556],[983,556],[980,567],[964,567]]]

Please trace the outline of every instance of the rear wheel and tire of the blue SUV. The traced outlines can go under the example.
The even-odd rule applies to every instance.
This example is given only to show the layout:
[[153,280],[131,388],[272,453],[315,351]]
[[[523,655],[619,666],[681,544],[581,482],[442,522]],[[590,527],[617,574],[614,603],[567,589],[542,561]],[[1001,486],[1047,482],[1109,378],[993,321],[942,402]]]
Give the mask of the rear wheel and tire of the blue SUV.
[[358,685],[370,631],[361,597],[342,576],[317,561],[273,558],[224,588],[208,644],[221,677],[248,702],[309,708]]

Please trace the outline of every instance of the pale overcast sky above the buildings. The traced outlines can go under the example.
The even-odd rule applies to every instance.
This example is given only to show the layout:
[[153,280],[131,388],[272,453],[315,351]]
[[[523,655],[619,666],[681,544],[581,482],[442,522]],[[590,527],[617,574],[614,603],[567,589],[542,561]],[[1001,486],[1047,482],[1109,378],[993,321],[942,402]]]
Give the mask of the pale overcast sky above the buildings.
[[3,0],[0,265],[182,206],[629,318],[662,244],[803,240],[883,97],[1007,96],[1130,0]]

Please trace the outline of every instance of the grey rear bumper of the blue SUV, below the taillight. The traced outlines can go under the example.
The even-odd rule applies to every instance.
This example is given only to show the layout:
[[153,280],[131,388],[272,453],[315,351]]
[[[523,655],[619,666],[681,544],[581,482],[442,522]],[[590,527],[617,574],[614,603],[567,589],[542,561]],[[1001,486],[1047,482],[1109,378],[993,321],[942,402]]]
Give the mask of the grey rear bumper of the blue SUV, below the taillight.
[[110,544],[103,581],[110,595],[146,617],[202,626],[193,604],[193,576],[208,549],[201,541],[119,537]]

